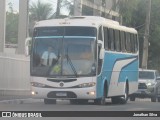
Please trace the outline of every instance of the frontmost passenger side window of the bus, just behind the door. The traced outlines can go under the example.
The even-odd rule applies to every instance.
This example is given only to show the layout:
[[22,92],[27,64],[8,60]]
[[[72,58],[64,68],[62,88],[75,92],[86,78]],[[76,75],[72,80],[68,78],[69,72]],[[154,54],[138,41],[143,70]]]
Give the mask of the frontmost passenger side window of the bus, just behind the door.
[[109,39],[108,39],[108,28],[104,27],[103,28],[104,30],[104,48],[106,50],[109,50],[110,49],[110,45],[109,45]]

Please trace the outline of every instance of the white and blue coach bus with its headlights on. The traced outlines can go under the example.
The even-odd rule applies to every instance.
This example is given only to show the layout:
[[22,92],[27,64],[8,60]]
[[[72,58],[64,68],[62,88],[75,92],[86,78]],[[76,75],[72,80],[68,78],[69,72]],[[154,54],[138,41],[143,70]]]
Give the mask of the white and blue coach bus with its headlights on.
[[30,56],[33,98],[45,104],[89,100],[127,103],[138,90],[139,47],[134,28],[95,16],[36,23]]

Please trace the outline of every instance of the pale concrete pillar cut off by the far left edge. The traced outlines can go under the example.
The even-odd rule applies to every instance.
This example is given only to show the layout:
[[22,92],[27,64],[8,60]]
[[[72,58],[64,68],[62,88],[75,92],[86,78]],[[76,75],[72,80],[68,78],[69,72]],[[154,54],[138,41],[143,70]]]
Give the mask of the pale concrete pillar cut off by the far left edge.
[[0,52],[4,52],[6,27],[6,0],[0,0]]

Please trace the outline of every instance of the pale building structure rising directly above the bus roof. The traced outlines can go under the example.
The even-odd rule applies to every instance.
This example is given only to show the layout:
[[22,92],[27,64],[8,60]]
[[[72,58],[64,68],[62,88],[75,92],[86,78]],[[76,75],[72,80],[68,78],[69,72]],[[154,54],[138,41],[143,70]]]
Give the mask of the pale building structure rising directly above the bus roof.
[[75,0],[74,15],[94,15],[119,21],[119,13],[112,10],[118,0]]

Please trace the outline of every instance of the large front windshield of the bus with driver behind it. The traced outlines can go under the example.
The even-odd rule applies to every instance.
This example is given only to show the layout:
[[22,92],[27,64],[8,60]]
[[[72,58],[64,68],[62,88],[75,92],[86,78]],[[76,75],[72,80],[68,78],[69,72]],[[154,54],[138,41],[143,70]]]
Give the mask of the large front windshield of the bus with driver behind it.
[[[96,33],[87,36],[85,32],[81,35],[77,32],[78,36],[75,36],[77,28],[74,28],[74,34],[68,31],[62,35],[62,29],[73,28],[54,28],[50,32],[61,31],[60,34],[52,33],[55,36],[51,36],[49,30],[47,35],[40,31],[34,37],[31,74],[45,77],[95,75]],[[94,28],[91,30],[94,31]]]

